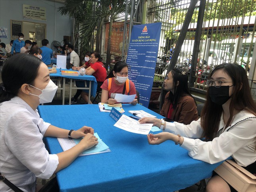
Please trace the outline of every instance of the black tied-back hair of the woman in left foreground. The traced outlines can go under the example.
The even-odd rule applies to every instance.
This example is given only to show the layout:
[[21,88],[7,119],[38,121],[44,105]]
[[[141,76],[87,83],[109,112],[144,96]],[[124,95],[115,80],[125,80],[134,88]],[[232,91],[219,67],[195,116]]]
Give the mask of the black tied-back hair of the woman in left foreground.
[[24,83],[34,85],[40,63],[40,59],[30,54],[16,54],[6,61],[2,70],[0,103],[17,96]]

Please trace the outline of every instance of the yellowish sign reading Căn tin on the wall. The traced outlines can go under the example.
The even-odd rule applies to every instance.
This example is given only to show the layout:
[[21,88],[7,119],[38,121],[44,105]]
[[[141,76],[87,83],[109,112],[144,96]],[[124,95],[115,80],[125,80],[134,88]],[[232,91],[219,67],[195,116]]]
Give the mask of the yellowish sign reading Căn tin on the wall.
[[46,21],[46,9],[23,4],[23,19]]

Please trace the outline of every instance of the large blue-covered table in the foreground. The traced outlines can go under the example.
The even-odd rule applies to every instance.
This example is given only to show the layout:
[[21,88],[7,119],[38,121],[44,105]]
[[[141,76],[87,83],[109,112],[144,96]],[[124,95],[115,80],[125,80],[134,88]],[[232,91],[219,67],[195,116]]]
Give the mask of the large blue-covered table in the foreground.
[[[139,104],[123,104],[129,110],[144,110],[161,115]],[[49,111],[58,111],[55,115]],[[68,114],[73,114],[70,117]],[[149,145],[147,136],[114,127],[108,112],[98,105],[38,106],[42,119],[64,129],[93,127],[112,152],[77,157],[71,165],[56,173],[61,192],[81,191],[175,191],[211,176],[220,164],[192,159],[187,150],[166,141]],[[158,132],[154,132],[158,133]],[[51,154],[62,152],[56,138],[46,138]]]

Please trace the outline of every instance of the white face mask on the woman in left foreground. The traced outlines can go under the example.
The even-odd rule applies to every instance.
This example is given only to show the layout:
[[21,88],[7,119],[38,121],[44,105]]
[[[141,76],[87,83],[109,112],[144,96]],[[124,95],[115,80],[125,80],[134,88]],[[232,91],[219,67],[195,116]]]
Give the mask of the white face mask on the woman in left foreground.
[[[30,85],[30,86],[32,86],[32,85]],[[34,88],[36,88],[36,87],[34,87]],[[38,89],[38,88],[36,88],[36,89]],[[38,89],[38,90],[42,91],[42,93],[40,95],[35,95],[32,93],[29,93],[29,94],[38,96],[40,104],[50,103],[50,102],[52,102],[57,89],[58,89],[58,86],[56,84],[54,84],[52,82],[52,80],[50,80],[49,83],[47,84],[47,86],[43,90]]]

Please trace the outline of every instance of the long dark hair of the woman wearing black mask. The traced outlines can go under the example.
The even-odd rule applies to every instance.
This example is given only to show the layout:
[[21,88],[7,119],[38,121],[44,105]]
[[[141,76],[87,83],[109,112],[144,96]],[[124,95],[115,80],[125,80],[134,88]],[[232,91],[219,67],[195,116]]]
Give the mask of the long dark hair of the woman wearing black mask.
[[[209,79],[211,79],[212,75],[218,70],[225,71],[225,73],[231,77],[234,84],[234,90],[229,105],[230,116],[225,125],[226,129],[232,121],[234,109],[238,111],[246,110],[249,113],[256,115],[256,104],[252,99],[246,71],[241,65],[235,63],[222,63],[212,70]],[[201,112],[201,126],[204,130],[202,137],[205,137],[207,141],[213,140],[215,134],[218,132],[222,112],[222,106],[212,102],[208,89],[206,93],[206,103]]]

